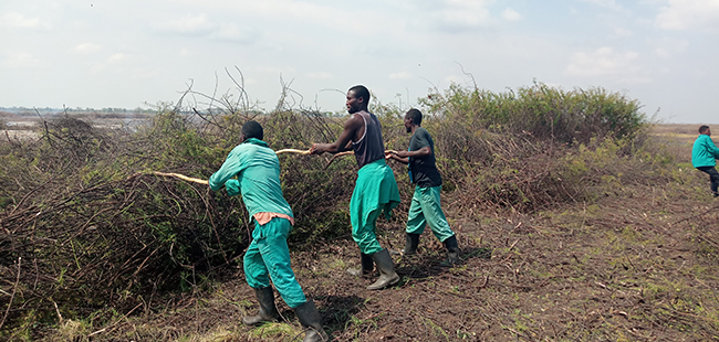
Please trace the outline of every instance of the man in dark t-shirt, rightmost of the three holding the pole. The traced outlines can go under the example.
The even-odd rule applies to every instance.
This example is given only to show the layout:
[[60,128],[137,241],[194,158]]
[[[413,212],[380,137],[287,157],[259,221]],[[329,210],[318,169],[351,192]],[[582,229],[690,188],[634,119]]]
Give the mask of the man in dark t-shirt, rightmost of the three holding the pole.
[[451,266],[459,261],[459,247],[455,232],[449,227],[447,217],[439,204],[441,175],[435,164],[435,142],[429,132],[421,127],[421,111],[409,109],[405,115],[405,128],[411,133],[408,151],[396,151],[387,154],[388,159],[397,160],[409,165],[409,180],[415,184],[415,194],[409,205],[405,249],[403,254],[417,253],[419,235],[425,225],[445,244],[447,259],[441,266]]

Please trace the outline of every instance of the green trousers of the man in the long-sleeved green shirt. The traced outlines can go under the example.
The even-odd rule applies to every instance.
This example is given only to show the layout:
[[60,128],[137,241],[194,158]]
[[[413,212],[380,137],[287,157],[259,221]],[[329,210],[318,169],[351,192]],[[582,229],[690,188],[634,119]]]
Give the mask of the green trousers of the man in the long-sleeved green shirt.
[[269,287],[271,278],[282,300],[290,308],[296,308],[306,298],[290,266],[288,235],[291,229],[285,218],[275,217],[265,225],[256,222],[252,243],[244,254],[244,278],[256,289]]

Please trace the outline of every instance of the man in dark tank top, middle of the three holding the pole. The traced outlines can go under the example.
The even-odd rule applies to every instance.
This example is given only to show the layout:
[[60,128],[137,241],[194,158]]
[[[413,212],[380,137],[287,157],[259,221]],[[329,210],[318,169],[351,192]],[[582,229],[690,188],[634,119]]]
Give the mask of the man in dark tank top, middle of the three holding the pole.
[[369,90],[364,86],[354,86],[347,92],[347,111],[350,119],[344,124],[340,138],[332,143],[314,143],[313,154],[324,152],[337,153],[353,150],[359,171],[350,201],[352,238],[359,246],[359,269],[348,269],[353,276],[368,276],[374,265],[379,270],[379,278],[368,286],[378,290],[399,281],[395,272],[389,252],[379,246],[375,233],[377,217],[384,212],[389,218],[392,210],[399,204],[399,190],[395,174],[385,162],[385,143],[382,139],[382,125],[377,117],[367,110]]

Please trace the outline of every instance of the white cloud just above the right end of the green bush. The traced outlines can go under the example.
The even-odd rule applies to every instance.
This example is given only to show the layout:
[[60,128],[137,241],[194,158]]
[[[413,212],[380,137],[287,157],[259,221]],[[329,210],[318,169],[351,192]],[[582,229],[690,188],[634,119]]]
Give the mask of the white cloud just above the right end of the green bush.
[[608,46],[591,53],[575,52],[565,73],[580,77],[613,76],[619,82],[646,82],[646,77],[642,76],[642,68],[636,64],[638,57],[636,52],[618,53]]

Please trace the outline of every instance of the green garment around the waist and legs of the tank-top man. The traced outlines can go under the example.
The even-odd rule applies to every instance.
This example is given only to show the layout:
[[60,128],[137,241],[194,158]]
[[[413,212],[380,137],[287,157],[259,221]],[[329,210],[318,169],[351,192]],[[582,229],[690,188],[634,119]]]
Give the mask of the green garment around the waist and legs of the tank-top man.
[[399,204],[399,190],[392,169],[384,159],[365,164],[357,171],[357,182],[350,201],[352,238],[359,250],[373,255],[383,248],[375,233],[377,217],[384,211],[389,218]]

